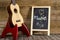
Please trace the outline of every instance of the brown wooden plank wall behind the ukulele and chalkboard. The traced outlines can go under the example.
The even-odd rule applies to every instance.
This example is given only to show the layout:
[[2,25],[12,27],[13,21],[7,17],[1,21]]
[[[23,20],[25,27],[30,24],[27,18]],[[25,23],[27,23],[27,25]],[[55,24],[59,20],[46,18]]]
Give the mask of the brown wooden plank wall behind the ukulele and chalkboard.
[[[51,6],[51,33],[60,34],[60,0],[16,0],[27,27],[30,30],[32,6]],[[8,20],[7,6],[11,0],[0,0],[0,30]]]

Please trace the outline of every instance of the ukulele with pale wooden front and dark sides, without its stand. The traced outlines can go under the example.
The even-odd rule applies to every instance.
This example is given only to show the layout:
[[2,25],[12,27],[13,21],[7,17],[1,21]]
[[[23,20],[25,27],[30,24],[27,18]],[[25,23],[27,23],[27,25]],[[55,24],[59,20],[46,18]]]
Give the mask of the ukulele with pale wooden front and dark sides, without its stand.
[[15,0],[11,0],[11,2],[12,3],[7,7],[9,13],[8,21],[11,26],[15,26],[17,24],[18,27],[21,27],[24,21],[19,10],[19,5],[15,2]]

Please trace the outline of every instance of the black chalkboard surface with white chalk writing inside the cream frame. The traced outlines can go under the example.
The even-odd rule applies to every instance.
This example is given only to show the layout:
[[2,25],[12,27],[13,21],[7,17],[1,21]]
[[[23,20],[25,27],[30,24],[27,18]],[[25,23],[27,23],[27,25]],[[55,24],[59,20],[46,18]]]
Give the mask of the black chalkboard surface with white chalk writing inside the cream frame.
[[48,8],[34,8],[33,29],[48,28]]

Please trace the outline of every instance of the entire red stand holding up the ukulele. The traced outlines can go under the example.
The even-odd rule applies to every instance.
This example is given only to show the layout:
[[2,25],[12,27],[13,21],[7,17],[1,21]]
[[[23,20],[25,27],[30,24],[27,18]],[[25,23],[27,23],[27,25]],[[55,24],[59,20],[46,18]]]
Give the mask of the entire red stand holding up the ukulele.
[[2,32],[1,37],[4,38],[7,33],[12,33],[13,40],[17,40],[18,29],[19,29],[19,31],[22,31],[23,34],[26,34],[27,36],[30,36],[30,33],[29,33],[29,31],[28,31],[28,29],[27,29],[25,24],[22,24],[22,27],[19,27],[19,28],[17,27],[17,24],[16,24],[13,28],[11,28],[9,23],[7,23],[5,29]]

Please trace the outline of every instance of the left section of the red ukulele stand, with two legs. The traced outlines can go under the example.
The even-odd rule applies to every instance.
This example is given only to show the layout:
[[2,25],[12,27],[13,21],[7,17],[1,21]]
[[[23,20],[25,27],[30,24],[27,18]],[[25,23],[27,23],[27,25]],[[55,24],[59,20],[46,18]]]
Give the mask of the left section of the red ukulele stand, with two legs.
[[17,40],[17,37],[18,37],[18,27],[17,27],[17,25],[15,25],[14,28],[11,28],[9,23],[7,23],[5,29],[2,32],[1,37],[5,37],[7,33],[12,33],[13,40]]

